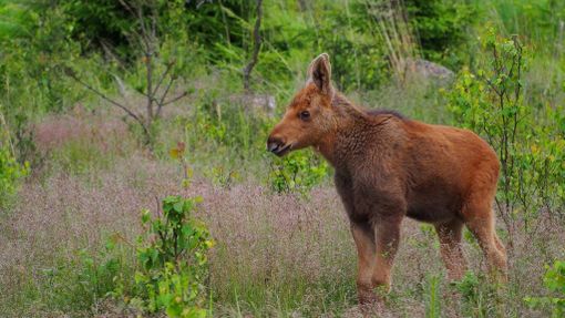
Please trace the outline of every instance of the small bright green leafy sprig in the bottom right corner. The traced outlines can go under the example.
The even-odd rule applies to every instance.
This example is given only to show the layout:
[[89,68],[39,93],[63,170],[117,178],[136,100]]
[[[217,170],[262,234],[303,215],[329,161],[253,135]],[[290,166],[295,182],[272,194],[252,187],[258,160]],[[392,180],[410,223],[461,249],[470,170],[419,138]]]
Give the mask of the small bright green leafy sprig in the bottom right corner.
[[548,308],[552,317],[565,315],[565,261],[556,260],[552,267],[546,266],[544,286],[555,296],[525,297],[526,304],[533,308]]

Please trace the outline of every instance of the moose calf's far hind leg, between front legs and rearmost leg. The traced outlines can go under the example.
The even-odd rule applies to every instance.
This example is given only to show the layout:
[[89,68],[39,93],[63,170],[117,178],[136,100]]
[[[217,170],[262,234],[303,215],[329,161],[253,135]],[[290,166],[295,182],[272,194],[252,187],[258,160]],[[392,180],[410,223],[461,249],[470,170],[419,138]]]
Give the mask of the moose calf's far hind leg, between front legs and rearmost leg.
[[462,229],[463,222],[460,219],[435,225],[435,232],[440,238],[441,258],[448,268],[450,280],[460,280],[466,270],[465,257],[461,249]]

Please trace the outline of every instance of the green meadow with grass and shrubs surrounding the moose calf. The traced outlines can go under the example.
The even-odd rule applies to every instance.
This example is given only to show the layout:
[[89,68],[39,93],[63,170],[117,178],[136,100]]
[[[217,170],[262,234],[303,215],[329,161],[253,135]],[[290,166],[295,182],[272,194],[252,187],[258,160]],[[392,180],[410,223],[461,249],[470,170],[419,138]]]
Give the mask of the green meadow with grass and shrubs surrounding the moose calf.
[[564,39],[553,0],[0,0],[0,317],[362,317],[332,168],[266,150],[321,52],[503,164],[508,283],[405,219],[377,315],[563,317]]

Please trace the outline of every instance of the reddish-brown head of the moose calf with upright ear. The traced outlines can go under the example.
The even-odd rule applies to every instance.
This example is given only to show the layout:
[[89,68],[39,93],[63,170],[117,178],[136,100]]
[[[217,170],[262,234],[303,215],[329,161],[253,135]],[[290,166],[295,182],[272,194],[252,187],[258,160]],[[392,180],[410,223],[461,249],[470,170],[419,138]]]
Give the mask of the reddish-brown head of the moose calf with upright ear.
[[267,150],[278,156],[316,145],[335,125],[333,88],[327,53],[314,59],[306,85],[294,96],[267,140]]

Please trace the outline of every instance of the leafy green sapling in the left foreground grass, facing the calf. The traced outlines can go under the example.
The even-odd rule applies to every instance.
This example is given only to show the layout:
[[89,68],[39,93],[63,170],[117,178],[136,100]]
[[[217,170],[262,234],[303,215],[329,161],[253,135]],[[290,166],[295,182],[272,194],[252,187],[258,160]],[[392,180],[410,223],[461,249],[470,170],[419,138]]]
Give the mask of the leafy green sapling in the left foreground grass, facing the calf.
[[135,273],[136,293],[130,300],[150,312],[164,310],[168,317],[205,317],[204,281],[207,250],[214,242],[206,227],[192,213],[201,198],[168,196],[163,216],[153,218],[144,211],[142,223],[148,229],[140,237]]

